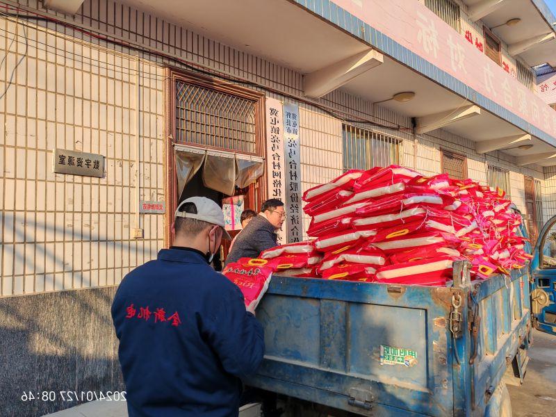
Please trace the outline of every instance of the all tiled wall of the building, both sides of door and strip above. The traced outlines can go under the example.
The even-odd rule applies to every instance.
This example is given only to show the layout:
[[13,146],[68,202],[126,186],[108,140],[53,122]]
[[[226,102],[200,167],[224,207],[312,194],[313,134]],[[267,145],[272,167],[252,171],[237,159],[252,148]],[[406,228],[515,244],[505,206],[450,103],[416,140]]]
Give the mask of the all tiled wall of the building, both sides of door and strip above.
[[[42,8],[42,3],[40,6],[37,3],[22,2]],[[88,0],[83,5],[83,14],[71,19],[288,95],[301,95],[302,76],[293,70],[184,28],[174,31],[172,24],[146,13],[122,13],[125,8],[122,5],[116,8],[108,0]],[[126,16],[138,20],[128,22]],[[33,25],[26,26],[28,56],[19,66],[6,99],[0,103],[0,106],[6,103],[5,108],[0,107],[3,129],[0,164],[5,172],[0,178],[2,296],[117,284],[127,270],[154,258],[163,245],[165,228],[162,215],[141,215],[145,239],[130,238],[137,208],[136,52],[89,40],[67,28],[54,31],[56,27],[49,24],[47,31],[42,22],[38,27]],[[136,26],[145,28],[138,37],[132,30]],[[150,30],[152,27],[157,30]],[[0,46],[6,50],[11,33],[16,33],[15,24],[0,19]],[[22,51],[21,26],[17,33],[15,45],[17,51]],[[170,33],[177,35],[171,37]],[[8,51],[7,65],[0,70],[0,86],[6,85],[10,76],[6,68],[15,67],[16,57],[14,46]],[[175,61],[168,63],[177,65]],[[163,65],[165,61],[161,58],[142,54],[141,199],[164,197]],[[292,101],[283,95],[272,97]],[[403,140],[404,165],[427,174],[439,173],[442,147],[468,156],[470,176],[486,179],[485,157],[474,153],[469,140],[439,130],[417,138],[415,143],[408,129],[411,126],[408,117],[373,108],[372,104],[338,90],[321,99],[320,104],[343,114],[366,118],[373,115],[376,122],[404,127],[404,130],[373,128]],[[302,187],[306,190],[342,172],[342,122],[303,103],[300,119]],[[55,147],[105,155],[106,176],[89,179],[53,174],[51,151]],[[516,172],[512,188],[519,190],[525,170],[516,168],[512,158],[501,153],[489,158]],[[542,170],[535,168],[532,172],[542,178]],[[545,190],[550,192],[548,187]],[[304,219],[305,226],[307,221]]]

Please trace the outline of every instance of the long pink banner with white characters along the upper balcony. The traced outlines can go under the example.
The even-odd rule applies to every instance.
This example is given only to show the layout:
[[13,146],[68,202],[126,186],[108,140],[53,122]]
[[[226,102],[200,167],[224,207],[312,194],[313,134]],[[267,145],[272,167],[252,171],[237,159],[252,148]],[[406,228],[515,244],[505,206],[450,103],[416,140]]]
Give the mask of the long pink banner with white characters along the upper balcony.
[[[391,0],[388,8],[378,0],[336,0],[335,3],[480,94],[556,137],[556,113],[529,88],[512,78],[513,65],[506,57],[502,59],[502,64],[506,65],[501,67],[482,54],[484,40],[475,33],[470,35],[464,30],[464,35],[459,35],[418,1]],[[400,25],[400,22],[416,23]]]

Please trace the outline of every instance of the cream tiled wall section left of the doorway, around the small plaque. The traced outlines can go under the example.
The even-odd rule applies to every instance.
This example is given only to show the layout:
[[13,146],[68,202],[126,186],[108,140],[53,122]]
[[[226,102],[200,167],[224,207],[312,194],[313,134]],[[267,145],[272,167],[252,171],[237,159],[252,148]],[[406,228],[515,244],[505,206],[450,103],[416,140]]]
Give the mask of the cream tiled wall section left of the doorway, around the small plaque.
[[[10,48],[13,35],[18,42]],[[0,19],[1,90],[23,26]],[[0,295],[117,284],[163,243],[136,208],[136,59],[26,26],[27,56],[0,100]],[[17,45],[17,49],[16,49]],[[163,70],[140,64],[140,198],[163,199]],[[106,156],[104,178],[54,174],[54,148]]]

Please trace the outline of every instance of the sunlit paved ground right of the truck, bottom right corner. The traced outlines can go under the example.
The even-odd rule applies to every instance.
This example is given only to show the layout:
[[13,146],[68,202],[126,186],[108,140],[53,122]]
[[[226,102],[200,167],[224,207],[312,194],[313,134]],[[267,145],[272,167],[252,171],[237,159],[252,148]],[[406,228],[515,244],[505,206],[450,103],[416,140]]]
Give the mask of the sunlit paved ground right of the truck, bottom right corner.
[[525,382],[508,386],[514,417],[556,416],[556,336],[533,332]]

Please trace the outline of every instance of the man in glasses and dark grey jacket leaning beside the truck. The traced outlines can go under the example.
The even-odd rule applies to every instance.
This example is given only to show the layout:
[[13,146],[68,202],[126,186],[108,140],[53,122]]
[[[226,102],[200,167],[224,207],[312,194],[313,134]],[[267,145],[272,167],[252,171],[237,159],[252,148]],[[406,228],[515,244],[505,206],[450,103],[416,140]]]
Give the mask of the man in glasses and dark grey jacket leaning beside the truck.
[[261,213],[252,218],[238,238],[226,259],[226,265],[240,258],[256,258],[263,250],[278,245],[276,231],[281,229],[286,220],[284,203],[279,199],[266,200]]

